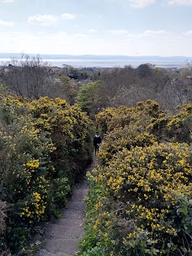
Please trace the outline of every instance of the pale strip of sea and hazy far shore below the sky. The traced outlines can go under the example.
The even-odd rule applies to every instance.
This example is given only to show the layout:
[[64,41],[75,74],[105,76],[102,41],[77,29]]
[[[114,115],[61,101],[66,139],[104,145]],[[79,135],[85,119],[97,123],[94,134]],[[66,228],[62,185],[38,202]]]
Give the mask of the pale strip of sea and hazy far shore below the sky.
[[[11,57],[10,57],[11,56]],[[19,54],[1,54],[0,66],[11,63],[12,57],[19,58]],[[35,56],[35,55],[33,55]],[[64,67],[71,65],[72,67],[138,67],[141,64],[150,63],[155,67],[165,68],[181,68],[186,67],[186,62],[192,61],[192,57],[173,56],[56,56],[56,55],[40,55],[42,61],[49,63],[51,67]]]

